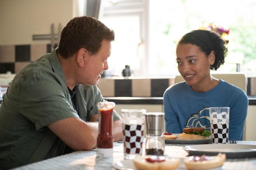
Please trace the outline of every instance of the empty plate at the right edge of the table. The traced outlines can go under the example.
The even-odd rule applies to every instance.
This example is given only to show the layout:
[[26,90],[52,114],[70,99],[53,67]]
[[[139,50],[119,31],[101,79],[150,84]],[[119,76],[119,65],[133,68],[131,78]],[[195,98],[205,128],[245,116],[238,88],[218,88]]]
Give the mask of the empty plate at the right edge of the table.
[[256,157],[256,145],[245,144],[208,144],[190,145],[183,147],[189,155],[216,155],[226,154],[227,158],[252,158]]

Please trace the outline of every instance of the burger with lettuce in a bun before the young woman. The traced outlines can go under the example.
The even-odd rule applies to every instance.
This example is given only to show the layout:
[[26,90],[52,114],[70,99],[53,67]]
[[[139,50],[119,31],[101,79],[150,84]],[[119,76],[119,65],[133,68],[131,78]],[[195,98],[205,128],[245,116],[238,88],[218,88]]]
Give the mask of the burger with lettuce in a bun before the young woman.
[[183,133],[179,135],[179,139],[198,140],[198,139],[206,139],[209,136],[211,136],[211,132],[209,130],[205,130],[203,127],[184,128]]

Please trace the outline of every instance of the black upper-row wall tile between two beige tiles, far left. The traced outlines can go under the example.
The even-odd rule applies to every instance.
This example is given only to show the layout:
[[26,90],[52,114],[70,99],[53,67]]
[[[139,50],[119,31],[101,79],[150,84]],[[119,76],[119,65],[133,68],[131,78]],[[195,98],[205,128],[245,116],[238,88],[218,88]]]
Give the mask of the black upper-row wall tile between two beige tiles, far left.
[[30,45],[15,45],[15,61],[30,61]]

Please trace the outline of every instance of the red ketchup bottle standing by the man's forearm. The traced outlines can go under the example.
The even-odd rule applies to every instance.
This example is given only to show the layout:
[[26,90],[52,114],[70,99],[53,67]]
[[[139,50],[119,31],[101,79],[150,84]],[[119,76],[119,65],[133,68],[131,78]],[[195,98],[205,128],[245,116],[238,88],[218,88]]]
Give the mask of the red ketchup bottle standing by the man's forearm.
[[99,129],[97,139],[97,156],[99,157],[113,157],[113,142],[112,135],[113,125],[113,109],[114,102],[99,102]]

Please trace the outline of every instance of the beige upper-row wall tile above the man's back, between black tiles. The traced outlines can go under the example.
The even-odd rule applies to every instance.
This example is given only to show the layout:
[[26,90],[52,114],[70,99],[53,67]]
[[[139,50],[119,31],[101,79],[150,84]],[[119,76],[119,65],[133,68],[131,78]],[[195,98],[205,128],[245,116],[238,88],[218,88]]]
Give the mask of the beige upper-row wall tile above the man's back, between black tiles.
[[38,58],[42,57],[47,52],[45,44],[31,45],[30,50],[31,50],[31,61],[36,61]]

